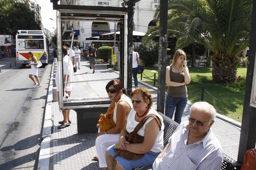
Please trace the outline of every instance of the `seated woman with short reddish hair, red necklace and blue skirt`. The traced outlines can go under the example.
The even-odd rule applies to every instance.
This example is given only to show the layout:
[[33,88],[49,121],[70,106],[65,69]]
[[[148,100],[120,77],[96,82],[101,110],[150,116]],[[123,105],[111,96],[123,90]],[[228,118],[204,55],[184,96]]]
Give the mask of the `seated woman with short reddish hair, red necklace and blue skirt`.
[[[151,108],[153,99],[151,93],[146,88],[136,88],[131,93],[133,109],[127,117],[125,127],[119,136],[119,141],[116,145],[112,145],[107,148],[106,161],[108,170],[112,169],[133,169],[136,167],[151,165],[158,154],[163,150],[163,130],[164,123],[161,115]],[[144,136],[143,143],[141,144],[130,144],[126,141],[125,135],[133,132],[134,128],[140,121],[143,120],[147,115],[154,114],[161,120],[161,128],[159,127],[157,120],[153,117],[148,118],[143,127],[138,131],[138,135]],[[127,150],[132,153],[145,154],[140,159],[128,160],[120,155],[113,157],[116,154],[114,148],[120,150]]]

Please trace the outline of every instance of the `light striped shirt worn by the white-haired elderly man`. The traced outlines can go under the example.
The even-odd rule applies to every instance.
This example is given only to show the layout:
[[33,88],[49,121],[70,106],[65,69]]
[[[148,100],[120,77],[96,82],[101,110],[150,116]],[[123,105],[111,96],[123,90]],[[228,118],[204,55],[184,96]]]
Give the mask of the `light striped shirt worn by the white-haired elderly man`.
[[202,141],[187,145],[189,121],[184,121],[169,139],[164,156],[155,159],[154,170],[209,169],[222,166],[222,147],[211,129]]

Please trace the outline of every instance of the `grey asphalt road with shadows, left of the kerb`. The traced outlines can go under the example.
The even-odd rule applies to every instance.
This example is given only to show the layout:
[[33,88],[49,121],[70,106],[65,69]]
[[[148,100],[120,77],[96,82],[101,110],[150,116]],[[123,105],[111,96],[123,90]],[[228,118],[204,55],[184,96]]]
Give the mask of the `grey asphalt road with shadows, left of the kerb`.
[[15,65],[15,58],[0,61],[0,169],[37,169],[50,61],[39,68],[40,88],[33,87],[30,68]]

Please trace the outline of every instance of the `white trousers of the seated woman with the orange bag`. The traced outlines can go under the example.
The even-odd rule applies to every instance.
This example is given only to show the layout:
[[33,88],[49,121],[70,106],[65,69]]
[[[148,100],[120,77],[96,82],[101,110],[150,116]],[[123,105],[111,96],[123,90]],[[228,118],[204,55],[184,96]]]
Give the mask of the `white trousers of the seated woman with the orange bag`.
[[106,163],[106,150],[111,145],[114,145],[118,142],[120,133],[117,134],[104,134],[96,138],[95,147],[96,153],[99,158],[99,167],[107,167]]

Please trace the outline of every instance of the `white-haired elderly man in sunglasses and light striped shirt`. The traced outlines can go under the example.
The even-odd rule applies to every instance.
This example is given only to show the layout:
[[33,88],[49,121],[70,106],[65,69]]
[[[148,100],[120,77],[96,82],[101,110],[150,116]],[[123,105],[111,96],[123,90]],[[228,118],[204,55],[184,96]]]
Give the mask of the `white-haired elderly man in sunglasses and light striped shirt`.
[[211,126],[216,110],[207,102],[196,102],[190,108],[188,121],[175,130],[153,169],[220,169],[222,147]]

